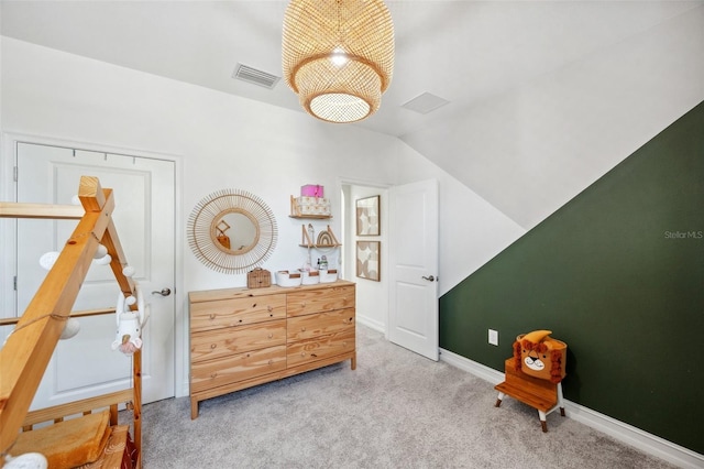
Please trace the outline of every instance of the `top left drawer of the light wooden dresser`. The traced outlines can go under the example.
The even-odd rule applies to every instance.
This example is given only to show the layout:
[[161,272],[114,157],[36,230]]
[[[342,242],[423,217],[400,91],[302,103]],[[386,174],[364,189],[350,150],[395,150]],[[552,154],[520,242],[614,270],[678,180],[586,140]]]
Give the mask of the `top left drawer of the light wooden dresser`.
[[286,295],[219,299],[190,304],[190,330],[244,326],[286,317]]

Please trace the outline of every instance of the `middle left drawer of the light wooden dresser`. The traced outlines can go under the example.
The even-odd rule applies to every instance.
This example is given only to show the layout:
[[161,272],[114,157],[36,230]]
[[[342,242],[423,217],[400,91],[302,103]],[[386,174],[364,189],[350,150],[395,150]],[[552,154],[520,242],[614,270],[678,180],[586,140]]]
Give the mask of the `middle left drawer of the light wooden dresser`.
[[286,343],[286,319],[228,327],[190,337],[190,361],[198,362]]

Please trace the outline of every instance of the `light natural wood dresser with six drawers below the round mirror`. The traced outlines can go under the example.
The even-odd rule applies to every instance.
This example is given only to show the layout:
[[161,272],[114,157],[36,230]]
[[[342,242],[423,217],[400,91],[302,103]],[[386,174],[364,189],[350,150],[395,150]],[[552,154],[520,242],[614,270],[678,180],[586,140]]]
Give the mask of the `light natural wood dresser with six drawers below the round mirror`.
[[206,399],[351,360],[355,285],[224,288],[188,294],[190,417]]

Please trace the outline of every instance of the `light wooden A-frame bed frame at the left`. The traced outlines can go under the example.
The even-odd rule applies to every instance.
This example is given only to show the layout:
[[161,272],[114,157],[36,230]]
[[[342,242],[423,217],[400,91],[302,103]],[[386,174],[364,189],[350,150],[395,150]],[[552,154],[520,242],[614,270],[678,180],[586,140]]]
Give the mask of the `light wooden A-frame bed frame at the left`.
[[[139,349],[133,355],[131,389],[28,412],[99,244],[105,246],[112,258],[110,268],[125,298],[136,297],[134,282],[122,273],[127,260],[112,221],[112,189],[101,188],[97,177],[82,176],[78,197],[82,209],[69,205],[0,203],[0,218],[79,220],[24,314],[19,319],[0,323],[16,321],[14,331],[0,350],[0,468],[21,429],[29,430],[38,423],[61,422],[66,416],[85,415],[106,407],[109,408],[110,425],[117,425],[118,405],[123,403],[132,407],[136,468],[141,468],[142,355]],[[136,304],[130,305],[131,310],[136,307]],[[113,313],[114,309],[106,309],[74,313],[74,316]]]

